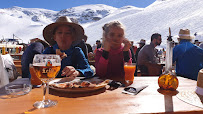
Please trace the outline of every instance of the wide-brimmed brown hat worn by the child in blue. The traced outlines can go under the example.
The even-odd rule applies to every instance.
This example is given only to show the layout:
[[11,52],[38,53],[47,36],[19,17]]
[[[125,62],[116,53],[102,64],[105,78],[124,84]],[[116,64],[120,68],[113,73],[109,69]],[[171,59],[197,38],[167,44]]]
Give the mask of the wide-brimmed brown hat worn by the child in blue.
[[73,43],[80,41],[84,37],[84,29],[82,26],[80,26],[79,24],[73,23],[66,16],[61,16],[56,20],[55,23],[51,23],[47,25],[43,30],[43,37],[50,45],[53,46],[54,44],[56,44],[56,41],[54,40],[54,30],[61,25],[68,25],[73,27],[73,29],[75,29],[76,37]]

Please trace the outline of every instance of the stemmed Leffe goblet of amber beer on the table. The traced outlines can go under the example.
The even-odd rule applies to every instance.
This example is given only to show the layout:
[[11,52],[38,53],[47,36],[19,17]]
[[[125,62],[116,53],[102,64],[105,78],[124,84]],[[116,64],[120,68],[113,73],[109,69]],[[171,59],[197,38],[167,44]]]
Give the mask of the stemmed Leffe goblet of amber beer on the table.
[[[36,108],[47,108],[57,104],[57,101],[48,99],[49,82],[53,80],[61,68],[61,58],[54,54],[36,54],[33,59],[33,68],[36,76],[43,84],[43,100],[34,103]],[[47,94],[48,93],[48,94]]]

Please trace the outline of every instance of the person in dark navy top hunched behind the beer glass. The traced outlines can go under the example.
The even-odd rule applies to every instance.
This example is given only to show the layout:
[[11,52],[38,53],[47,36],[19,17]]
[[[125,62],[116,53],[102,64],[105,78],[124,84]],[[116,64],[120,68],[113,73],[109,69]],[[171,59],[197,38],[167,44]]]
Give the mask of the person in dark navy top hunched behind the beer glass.
[[49,47],[49,44],[43,40],[38,38],[31,40],[21,58],[22,78],[31,78],[29,65],[32,64],[35,54],[41,54],[46,47]]

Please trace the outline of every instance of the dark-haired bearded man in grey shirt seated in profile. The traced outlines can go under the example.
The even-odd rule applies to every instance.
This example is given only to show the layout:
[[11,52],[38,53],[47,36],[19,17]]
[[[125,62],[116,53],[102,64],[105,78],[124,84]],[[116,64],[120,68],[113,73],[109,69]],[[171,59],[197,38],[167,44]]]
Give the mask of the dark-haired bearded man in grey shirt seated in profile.
[[161,35],[152,34],[151,43],[145,45],[138,53],[137,66],[142,76],[159,76],[162,73],[162,66],[157,64],[156,46],[161,44]]

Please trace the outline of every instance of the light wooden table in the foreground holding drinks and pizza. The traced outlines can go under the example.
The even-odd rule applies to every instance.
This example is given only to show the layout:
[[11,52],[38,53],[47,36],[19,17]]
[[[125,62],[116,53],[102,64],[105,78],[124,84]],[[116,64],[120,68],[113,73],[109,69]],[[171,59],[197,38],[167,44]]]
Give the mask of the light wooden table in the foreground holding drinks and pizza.
[[[178,77],[180,90],[194,90],[196,81]],[[57,100],[55,107],[36,109],[35,101],[42,100],[42,88],[34,88],[29,94],[17,98],[0,99],[0,113],[69,113],[69,114],[120,114],[120,113],[164,113],[164,112],[203,112],[198,108],[179,100],[174,95],[163,95],[159,91],[158,77],[135,77],[134,85],[148,85],[137,95],[121,93],[123,88],[115,90],[101,89],[90,93],[71,94],[50,89],[49,98]],[[28,79],[17,79],[15,83],[28,83]],[[13,83],[14,83],[13,82]],[[0,95],[4,95],[4,88]]]

